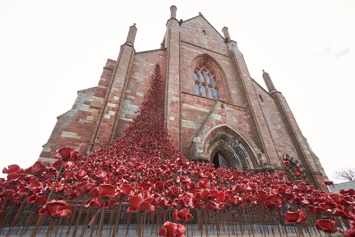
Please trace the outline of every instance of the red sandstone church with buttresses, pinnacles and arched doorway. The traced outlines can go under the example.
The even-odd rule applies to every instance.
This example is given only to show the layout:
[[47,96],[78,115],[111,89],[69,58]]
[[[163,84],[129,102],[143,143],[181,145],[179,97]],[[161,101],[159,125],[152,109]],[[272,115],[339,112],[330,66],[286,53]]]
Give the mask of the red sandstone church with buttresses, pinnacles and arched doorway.
[[[169,134],[190,160],[255,171],[284,171],[326,190],[319,158],[303,137],[284,96],[268,73],[267,90],[250,78],[237,42],[202,14],[185,21],[175,6],[161,48],[136,52],[137,28],[129,29],[117,60],[108,59],[99,84],[78,91],[71,110],[58,117],[40,160],[62,146],[82,154],[113,142],[135,118],[156,64],[165,80],[164,114]],[[282,161],[288,160],[289,165]]]

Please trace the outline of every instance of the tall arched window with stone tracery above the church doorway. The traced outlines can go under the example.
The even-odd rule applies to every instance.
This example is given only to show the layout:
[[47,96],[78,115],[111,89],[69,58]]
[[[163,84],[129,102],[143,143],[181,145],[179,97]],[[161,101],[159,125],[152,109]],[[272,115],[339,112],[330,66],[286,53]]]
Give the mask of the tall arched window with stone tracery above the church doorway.
[[195,94],[217,99],[219,97],[217,79],[206,65],[200,64],[194,70]]

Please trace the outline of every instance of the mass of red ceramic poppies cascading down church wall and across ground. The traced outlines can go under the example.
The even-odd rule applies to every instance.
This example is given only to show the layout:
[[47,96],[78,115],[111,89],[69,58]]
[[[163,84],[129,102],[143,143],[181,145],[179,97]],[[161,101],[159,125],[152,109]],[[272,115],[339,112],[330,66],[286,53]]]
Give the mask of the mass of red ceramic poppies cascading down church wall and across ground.
[[162,87],[156,65],[142,109],[114,143],[90,155],[62,147],[48,165],[36,161],[26,169],[5,167],[0,234],[25,235],[32,226],[35,237],[48,226],[47,236],[92,236],[94,230],[97,236],[119,236],[120,226],[127,235],[129,226],[138,223],[140,237],[148,227],[164,237],[196,231],[208,236],[226,229],[234,235],[246,232],[242,226],[254,233],[258,223],[265,235],[270,225],[282,224],[283,233],[345,231],[346,237],[354,236],[354,190],[332,194],[285,181],[285,172],[273,176],[215,168],[184,158],[164,125]]

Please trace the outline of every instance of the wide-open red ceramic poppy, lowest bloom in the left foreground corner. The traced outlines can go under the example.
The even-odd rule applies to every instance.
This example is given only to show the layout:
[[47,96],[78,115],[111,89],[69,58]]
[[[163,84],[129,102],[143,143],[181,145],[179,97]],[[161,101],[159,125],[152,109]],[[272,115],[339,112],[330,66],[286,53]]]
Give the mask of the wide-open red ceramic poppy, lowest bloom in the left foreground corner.
[[53,199],[45,206],[43,206],[38,214],[40,216],[54,216],[54,217],[69,217],[71,216],[71,210],[69,210],[69,207],[72,205],[72,203],[67,203],[65,200],[56,200]]

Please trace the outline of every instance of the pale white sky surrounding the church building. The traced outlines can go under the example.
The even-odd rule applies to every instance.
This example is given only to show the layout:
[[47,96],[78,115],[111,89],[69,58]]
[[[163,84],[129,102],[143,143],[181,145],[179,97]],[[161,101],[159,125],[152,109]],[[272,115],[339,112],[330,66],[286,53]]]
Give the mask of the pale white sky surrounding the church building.
[[[38,158],[76,91],[96,86],[137,24],[137,52],[160,47],[170,6],[228,27],[249,73],[264,69],[332,180],[354,167],[353,0],[0,0],[0,170]],[[1,174],[0,177],[5,177]],[[344,182],[344,181],[339,181]]]

